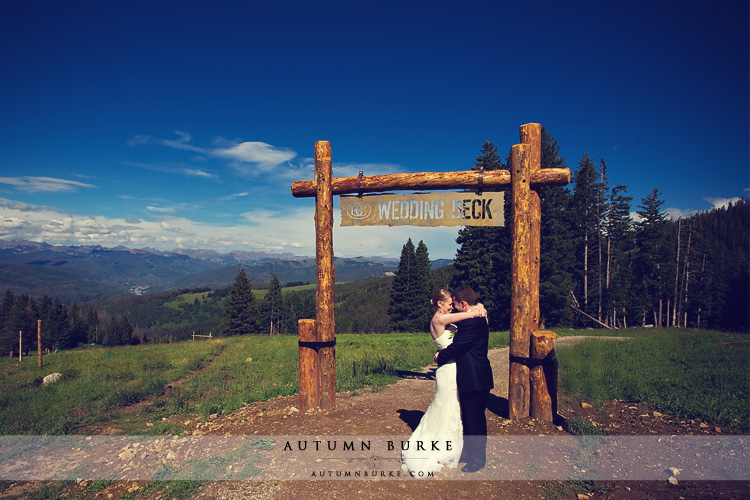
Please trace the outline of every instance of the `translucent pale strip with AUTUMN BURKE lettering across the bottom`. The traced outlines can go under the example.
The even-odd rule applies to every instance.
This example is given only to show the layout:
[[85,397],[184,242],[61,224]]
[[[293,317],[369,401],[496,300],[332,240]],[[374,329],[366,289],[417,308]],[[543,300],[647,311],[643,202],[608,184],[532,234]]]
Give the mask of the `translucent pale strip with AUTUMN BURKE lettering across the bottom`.
[[[408,436],[0,436],[0,480],[750,480],[748,436],[489,436],[476,473],[411,474]],[[411,445],[415,443],[412,442]],[[425,456],[449,439],[422,442]]]

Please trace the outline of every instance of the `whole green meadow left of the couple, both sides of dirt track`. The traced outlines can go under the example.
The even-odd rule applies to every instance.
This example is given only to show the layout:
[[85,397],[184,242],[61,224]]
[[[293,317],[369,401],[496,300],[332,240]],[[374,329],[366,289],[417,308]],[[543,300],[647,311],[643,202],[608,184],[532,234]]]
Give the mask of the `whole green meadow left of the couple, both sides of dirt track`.
[[[336,387],[339,391],[395,382],[401,370],[432,362],[434,343],[425,333],[338,335]],[[493,333],[493,346],[508,343],[507,333]],[[213,361],[212,363],[208,363]],[[86,425],[116,421],[130,433],[177,434],[181,426],[162,423],[175,414],[226,414],[245,403],[299,391],[296,336],[243,336],[173,344],[74,349],[21,363],[0,359],[0,433],[69,434]],[[168,396],[164,388],[198,368]],[[41,386],[60,372],[62,381]],[[153,399],[138,419],[119,415],[125,406]],[[131,422],[131,420],[135,421]],[[129,424],[131,428],[129,427]],[[139,430],[141,429],[141,430]]]

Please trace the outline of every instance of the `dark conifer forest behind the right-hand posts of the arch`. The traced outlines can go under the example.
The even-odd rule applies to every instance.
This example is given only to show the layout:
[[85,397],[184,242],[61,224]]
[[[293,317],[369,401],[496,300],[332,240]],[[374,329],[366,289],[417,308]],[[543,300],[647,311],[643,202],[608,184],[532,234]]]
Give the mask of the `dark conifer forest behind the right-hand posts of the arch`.
[[[474,168],[505,165],[487,142]],[[542,168],[565,166],[543,129]],[[634,207],[627,186],[610,185],[603,159],[584,154],[572,170],[572,186],[539,191],[540,309],[547,327],[600,322],[750,331],[747,200],[673,221],[656,188]],[[510,227],[467,227],[458,243],[453,285],[471,284],[493,312],[493,328],[507,329]]]

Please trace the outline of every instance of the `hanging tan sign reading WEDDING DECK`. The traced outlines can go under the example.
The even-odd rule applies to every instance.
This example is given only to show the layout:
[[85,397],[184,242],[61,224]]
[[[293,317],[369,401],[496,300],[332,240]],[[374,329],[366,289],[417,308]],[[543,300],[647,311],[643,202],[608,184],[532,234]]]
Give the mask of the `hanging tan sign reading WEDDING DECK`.
[[501,192],[341,196],[342,226],[503,226]]

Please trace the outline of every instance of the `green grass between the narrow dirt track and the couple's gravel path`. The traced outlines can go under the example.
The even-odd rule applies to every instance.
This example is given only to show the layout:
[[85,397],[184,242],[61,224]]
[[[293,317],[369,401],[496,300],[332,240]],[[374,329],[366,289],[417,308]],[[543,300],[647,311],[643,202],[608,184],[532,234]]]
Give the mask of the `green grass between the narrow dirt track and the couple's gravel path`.
[[[296,336],[236,340],[207,370],[174,393],[170,403],[173,411],[198,413],[205,418],[213,413],[231,413],[245,403],[299,392]],[[492,347],[507,346],[508,334],[493,333],[490,341]],[[425,333],[337,335],[336,390],[394,383],[399,371],[431,364],[434,353],[435,344]]]

